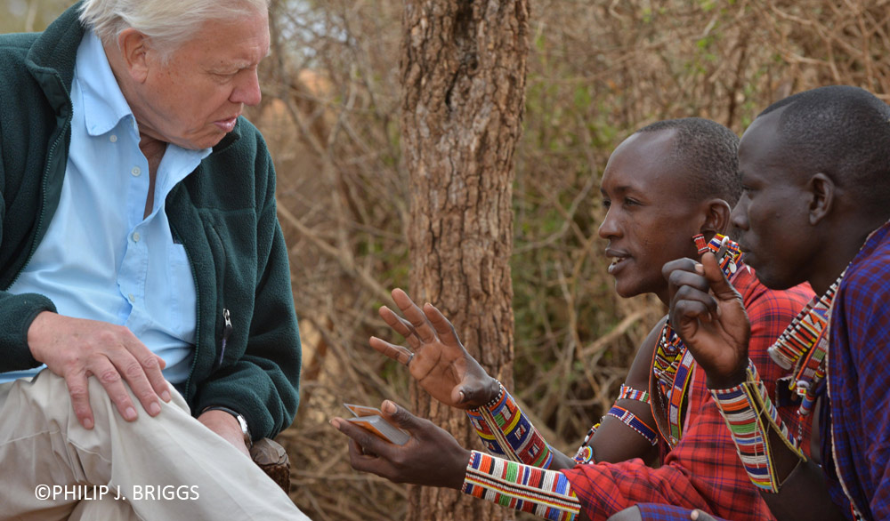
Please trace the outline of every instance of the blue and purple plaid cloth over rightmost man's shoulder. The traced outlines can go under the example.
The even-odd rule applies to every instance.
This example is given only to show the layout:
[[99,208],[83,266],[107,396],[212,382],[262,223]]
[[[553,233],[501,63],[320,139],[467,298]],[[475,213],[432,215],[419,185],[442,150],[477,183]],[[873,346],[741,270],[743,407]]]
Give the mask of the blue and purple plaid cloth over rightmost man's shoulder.
[[866,519],[890,519],[890,223],[847,268],[830,334],[830,419],[822,422],[829,490],[845,510],[852,501]]

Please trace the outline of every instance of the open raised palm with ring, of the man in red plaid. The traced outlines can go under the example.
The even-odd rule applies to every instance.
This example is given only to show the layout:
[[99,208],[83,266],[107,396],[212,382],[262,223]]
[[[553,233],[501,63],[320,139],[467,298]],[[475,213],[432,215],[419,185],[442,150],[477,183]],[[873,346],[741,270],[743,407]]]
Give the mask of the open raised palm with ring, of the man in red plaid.
[[498,396],[498,381],[466,352],[454,326],[439,309],[432,304],[420,309],[408,293],[398,288],[392,290],[392,300],[405,318],[386,306],[380,308],[380,317],[405,337],[410,349],[377,337],[369,341],[372,348],[408,365],[420,387],[445,405],[472,409]]

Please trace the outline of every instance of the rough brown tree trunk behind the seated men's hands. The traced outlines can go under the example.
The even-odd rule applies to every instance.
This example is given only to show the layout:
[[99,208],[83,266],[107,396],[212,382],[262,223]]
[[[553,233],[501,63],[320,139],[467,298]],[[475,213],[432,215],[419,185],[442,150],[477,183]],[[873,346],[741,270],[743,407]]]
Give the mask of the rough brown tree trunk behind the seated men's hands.
[[[513,154],[529,53],[528,0],[406,0],[402,157],[410,172],[411,294],[452,320],[509,386],[513,362]],[[419,416],[478,448],[465,414],[412,389]],[[431,469],[434,471],[434,469]],[[413,487],[409,519],[489,520],[487,501]]]

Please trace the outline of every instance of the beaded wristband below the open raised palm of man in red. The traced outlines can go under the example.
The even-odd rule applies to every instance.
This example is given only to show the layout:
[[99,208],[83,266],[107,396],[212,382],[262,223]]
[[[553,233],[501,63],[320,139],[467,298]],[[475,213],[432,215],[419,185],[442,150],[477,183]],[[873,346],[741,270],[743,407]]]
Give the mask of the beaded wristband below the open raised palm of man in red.
[[527,465],[549,469],[554,459],[546,440],[531,424],[514,398],[500,385],[497,400],[466,411],[467,418],[492,454]]

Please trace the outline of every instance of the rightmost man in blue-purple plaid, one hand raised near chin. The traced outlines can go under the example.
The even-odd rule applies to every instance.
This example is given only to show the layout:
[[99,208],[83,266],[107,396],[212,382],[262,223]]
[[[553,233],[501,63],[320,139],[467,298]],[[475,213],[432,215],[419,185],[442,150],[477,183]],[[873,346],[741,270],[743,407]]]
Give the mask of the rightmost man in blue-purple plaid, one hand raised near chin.
[[746,260],[768,287],[808,281],[821,295],[771,349],[793,368],[800,413],[821,412],[821,468],[799,450],[809,439],[775,421],[744,307],[712,255],[665,267],[670,323],[776,517],[890,519],[890,108],[850,86],[801,92],[756,118],[739,156],[732,222]]

